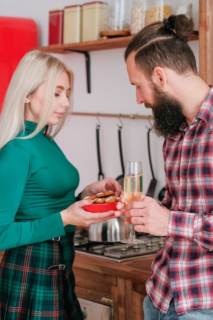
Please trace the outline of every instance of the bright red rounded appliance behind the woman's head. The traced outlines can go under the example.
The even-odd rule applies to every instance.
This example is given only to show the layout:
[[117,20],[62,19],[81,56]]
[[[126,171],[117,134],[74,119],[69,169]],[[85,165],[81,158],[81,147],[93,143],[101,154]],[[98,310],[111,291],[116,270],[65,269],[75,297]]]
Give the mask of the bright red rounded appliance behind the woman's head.
[[0,16],[0,111],[18,62],[37,46],[37,26],[33,19]]

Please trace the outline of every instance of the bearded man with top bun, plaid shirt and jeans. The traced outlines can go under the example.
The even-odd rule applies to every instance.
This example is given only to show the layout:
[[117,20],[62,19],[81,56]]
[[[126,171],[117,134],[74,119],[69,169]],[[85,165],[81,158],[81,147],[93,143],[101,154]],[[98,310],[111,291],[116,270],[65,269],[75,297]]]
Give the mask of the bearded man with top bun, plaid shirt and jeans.
[[171,15],[139,31],[125,51],[137,103],[151,108],[163,144],[165,195],[124,210],[137,232],[165,236],[146,283],[145,320],[213,318],[213,88],[187,44],[194,21]]

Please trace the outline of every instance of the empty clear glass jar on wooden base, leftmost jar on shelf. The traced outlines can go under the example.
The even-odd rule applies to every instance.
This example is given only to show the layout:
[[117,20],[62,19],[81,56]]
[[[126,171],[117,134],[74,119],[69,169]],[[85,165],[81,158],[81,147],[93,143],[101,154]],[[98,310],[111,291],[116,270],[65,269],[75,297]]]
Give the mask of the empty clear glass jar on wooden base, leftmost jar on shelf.
[[132,0],[108,0],[102,35],[129,35]]

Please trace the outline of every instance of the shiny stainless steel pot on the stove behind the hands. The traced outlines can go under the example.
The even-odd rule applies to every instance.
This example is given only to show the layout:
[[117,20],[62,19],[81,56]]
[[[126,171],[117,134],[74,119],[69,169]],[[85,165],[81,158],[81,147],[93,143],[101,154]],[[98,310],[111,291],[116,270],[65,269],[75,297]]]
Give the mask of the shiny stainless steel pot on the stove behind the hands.
[[96,242],[120,242],[122,239],[127,239],[130,226],[124,224],[125,220],[126,218],[121,216],[91,224],[87,230],[87,239]]

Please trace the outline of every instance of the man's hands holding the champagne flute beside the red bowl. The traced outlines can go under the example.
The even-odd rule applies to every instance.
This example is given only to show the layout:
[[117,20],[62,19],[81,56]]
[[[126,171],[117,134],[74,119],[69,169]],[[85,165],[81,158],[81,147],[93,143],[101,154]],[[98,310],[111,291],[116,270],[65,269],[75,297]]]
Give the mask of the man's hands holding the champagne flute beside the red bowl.
[[[123,194],[117,209],[122,209],[125,203]],[[115,211],[114,215],[119,217],[123,210]],[[153,198],[145,196],[143,201],[135,201],[125,208],[125,224],[134,224],[135,231],[145,232],[154,236],[168,236],[170,210],[161,207]]]

